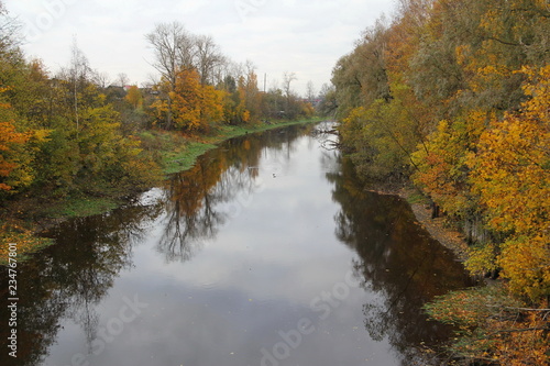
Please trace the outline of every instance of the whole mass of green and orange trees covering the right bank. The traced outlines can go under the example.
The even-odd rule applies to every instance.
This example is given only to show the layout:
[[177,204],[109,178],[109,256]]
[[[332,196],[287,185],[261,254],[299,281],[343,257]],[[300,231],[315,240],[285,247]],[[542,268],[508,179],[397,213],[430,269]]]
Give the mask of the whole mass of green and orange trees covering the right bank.
[[549,18],[544,0],[402,0],[332,73],[358,171],[413,181],[465,230],[466,267],[501,274],[497,295],[429,307],[461,326],[453,351],[472,362],[549,357]]

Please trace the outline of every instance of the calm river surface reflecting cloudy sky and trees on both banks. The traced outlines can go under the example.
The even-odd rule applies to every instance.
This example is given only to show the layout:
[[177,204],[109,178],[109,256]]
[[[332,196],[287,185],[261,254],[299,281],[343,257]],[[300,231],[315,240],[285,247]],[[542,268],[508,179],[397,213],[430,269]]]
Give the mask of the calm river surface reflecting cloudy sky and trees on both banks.
[[420,307],[468,277],[311,129],[229,141],[47,233],[57,244],[19,267],[18,358],[2,325],[0,364],[428,364],[449,330]]

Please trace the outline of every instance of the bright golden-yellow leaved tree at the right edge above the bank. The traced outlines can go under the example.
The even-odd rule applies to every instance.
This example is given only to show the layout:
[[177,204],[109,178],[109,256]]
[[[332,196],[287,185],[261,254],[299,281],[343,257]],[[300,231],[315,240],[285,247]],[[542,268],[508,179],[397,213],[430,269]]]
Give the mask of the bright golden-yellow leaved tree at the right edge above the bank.
[[530,99],[492,123],[468,164],[490,228],[508,234],[497,264],[510,290],[537,301],[550,296],[550,66],[521,73]]

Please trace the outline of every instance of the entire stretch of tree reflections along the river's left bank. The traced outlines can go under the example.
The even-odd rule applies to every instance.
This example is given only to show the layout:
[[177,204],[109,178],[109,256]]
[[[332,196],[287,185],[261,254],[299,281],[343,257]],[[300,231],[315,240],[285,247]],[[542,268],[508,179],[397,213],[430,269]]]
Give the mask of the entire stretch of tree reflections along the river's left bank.
[[[218,231],[235,217],[235,197],[248,197],[261,187],[256,181],[262,152],[280,152],[282,160],[290,158],[293,142],[308,126],[295,126],[284,133],[235,138],[198,159],[189,170],[173,175],[162,196],[153,190],[152,201],[130,203],[109,214],[66,221],[45,236],[56,245],[18,267],[20,302],[18,357],[0,353],[0,365],[38,365],[55,343],[63,319],[79,324],[88,351],[97,337],[99,314],[96,309],[113,286],[119,274],[132,267],[132,248],[153,226],[163,226],[157,249],[167,262],[185,262],[202,243],[213,240]],[[7,268],[1,268],[7,274]],[[1,276],[0,288],[8,298],[8,276]],[[9,319],[7,307],[0,307],[0,319]],[[0,330],[0,346],[7,350],[10,330]]]

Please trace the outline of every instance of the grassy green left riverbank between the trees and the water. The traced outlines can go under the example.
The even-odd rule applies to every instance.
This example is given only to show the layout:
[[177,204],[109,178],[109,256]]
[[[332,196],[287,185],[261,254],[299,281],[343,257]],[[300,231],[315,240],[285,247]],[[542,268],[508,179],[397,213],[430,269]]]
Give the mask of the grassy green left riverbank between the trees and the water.
[[[144,131],[141,133],[143,148],[155,156],[162,169],[158,182],[166,176],[189,169],[197,158],[216,148],[229,138],[295,124],[316,123],[322,119],[260,123],[245,126],[220,126],[209,135],[182,136],[174,132]],[[109,212],[125,202],[136,192],[106,189],[101,197],[73,196],[63,199],[20,197],[10,202],[0,213],[0,265],[8,263],[9,244],[18,244],[18,259],[24,260],[51,242],[34,234],[69,218],[81,218]]]

